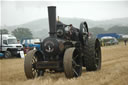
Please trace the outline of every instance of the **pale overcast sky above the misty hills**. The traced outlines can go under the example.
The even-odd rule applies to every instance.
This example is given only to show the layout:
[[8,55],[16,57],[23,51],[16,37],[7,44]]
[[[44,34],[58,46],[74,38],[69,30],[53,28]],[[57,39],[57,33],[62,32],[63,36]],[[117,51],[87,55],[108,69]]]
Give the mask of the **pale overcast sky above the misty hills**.
[[2,0],[0,26],[19,25],[40,18],[47,18],[47,6],[57,6],[57,16],[108,20],[128,17],[126,0]]

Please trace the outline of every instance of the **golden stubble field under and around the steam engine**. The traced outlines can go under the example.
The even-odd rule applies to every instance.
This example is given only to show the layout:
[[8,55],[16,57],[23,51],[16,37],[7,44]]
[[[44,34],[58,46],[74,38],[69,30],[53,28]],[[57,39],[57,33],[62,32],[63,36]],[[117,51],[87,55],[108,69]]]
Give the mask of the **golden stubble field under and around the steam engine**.
[[45,74],[34,80],[24,75],[23,59],[0,60],[0,85],[128,85],[128,45],[102,47],[102,69],[74,79],[64,73]]

